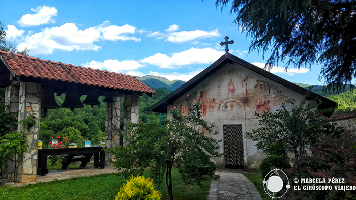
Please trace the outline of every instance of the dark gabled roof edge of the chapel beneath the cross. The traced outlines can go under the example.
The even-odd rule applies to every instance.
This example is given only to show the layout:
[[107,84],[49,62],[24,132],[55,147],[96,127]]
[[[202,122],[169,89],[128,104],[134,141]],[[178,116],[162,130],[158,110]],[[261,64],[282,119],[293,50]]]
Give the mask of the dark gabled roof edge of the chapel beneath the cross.
[[[225,53],[223,56],[221,56],[218,60],[216,60],[213,64],[211,64],[209,67],[207,67],[205,70],[200,72],[198,75],[194,76],[192,79],[190,79],[188,82],[183,84],[180,88],[176,89],[173,91],[171,94],[167,95],[164,97],[161,101],[157,102],[153,106],[149,107],[147,110],[153,111],[153,112],[161,112],[161,113],[167,113],[167,107],[170,104],[173,104],[173,102],[180,98],[181,96],[187,94],[188,91],[193,89],[197,84],[214,74],[216,71],[221,69],[223,66],[225,66],[228,63],[238,63],[247,69],[250,69],[262,76],[265,76],[267,78],[270,78],[271,80],[274,80],[285,87],[289,88],[290,90],[293,90],[295,92],[298,92],[302,95],[308,94],[308,90],[305,88],[300,87],[299,85],[296,85],[292,82],[289,82],[288,80],[285,80],[275,74],[272,74],[262,68],[259,68],[247,61],[244,61],[235,55],[232,55],[230,53]],[[325,116],[330,117],[331,114],[334,112],[334,109],[337,107],[337,103],[325,98],[321,95],[318,95],[313,92],[309,92],[308,94],[309,99],[317,100],[321,102],[319,105],[319,108],[321,109],[328,109],[332,108],[331,112],[324,113]]]

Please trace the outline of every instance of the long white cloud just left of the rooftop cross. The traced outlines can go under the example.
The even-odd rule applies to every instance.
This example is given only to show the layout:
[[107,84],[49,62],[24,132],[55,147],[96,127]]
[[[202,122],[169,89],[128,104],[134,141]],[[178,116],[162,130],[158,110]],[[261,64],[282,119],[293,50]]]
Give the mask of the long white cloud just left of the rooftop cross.
[[180,68],[182,65],[190,64],[210,64],[216,61],[224,51],[218,51],[213,48],[191,48],[179,53],[173,53],[168,56],[162,53],[156,53],[153,56],[140,60],[141,63],[148,63],[159,66],[160,68]]

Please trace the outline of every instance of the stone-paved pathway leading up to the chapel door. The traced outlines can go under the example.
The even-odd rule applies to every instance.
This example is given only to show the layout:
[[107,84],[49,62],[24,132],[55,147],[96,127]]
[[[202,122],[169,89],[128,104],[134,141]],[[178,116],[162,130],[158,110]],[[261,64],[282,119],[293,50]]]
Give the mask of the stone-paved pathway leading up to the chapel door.
[[219,169],[218,181],[210,184],[207,200],[261,200],[255,185],[242,173],[242,170]]

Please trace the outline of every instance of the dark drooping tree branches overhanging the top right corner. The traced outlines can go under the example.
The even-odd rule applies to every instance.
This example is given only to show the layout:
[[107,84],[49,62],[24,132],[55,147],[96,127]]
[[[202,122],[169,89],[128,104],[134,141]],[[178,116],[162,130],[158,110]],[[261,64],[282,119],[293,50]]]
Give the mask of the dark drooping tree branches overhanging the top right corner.
[[[217,0],[226,8],[229,0]],[[322,65],[319,77],[339,91],[356,77],[356,1],[234,0],[234,22],[251,35],[250,50],[271,52],[266,67]]]

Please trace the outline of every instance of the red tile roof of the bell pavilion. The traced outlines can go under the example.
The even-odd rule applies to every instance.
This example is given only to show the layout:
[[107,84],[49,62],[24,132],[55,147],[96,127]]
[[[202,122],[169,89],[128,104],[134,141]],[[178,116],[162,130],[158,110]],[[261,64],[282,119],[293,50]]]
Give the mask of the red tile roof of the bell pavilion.
[[5,51],[0,51],[0,55],[0,59],[16,76],[67,81],[146,94],[155,93],[135,76],[43,60]]

